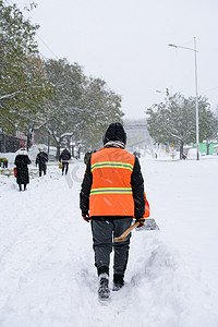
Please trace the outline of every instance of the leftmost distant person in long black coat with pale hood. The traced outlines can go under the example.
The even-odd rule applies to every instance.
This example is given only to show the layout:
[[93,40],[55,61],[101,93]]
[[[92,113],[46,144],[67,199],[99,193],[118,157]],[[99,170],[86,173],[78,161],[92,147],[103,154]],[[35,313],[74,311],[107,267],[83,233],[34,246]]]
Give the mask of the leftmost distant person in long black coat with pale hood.
[[22,191],[22,184],[24,185],[24,191],[26,190],[26,185],[29,183],[28,175],[28,165],[31,164],[31,159],[26,152],[26,148],[23,147],[16,152],[16,157],[14,160],[14,165],[16,166],[16,183],[19,184],[20,191]]

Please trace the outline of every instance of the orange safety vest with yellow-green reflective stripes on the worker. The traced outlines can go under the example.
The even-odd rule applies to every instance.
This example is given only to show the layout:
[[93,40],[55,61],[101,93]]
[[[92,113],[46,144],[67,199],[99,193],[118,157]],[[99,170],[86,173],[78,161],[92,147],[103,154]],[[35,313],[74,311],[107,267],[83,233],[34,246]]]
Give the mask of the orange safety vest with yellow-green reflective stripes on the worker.
[[90,217],[134,216],[131,185],[135,157],[121,148],[102,148],[92,155]]

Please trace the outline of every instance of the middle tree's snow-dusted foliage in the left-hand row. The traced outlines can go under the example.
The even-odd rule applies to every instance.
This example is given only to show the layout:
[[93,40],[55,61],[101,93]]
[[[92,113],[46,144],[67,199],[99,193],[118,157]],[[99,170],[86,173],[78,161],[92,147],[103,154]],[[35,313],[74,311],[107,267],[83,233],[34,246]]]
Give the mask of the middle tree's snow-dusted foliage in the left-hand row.
[[66,59],[48,60],[45,66],[47,78],[53,86],[47,101],[50,112],[47,114],[46,130],[60,143],[64,134],[74,135],[76,132],[83,73],[78,64],[70,64]]

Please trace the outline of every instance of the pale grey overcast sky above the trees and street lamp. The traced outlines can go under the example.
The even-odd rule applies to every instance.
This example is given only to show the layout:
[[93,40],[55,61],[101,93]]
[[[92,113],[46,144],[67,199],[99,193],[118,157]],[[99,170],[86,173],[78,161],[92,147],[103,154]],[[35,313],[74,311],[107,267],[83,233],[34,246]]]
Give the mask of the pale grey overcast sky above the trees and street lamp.
[[[15,2],[23,11],[28,0]],[[38,23],[39,50],[68,58],[86,75],[101,77],[122,96],[128,118],[171,94],[195,96],[197,41],[198,94],[218,105],[218,0],[35,0],[28,13]],[[26,15],[26,14],[25,14]],[[49,49],[50,50],[49,50]],[[157,93],[159,90],[161,93]]]

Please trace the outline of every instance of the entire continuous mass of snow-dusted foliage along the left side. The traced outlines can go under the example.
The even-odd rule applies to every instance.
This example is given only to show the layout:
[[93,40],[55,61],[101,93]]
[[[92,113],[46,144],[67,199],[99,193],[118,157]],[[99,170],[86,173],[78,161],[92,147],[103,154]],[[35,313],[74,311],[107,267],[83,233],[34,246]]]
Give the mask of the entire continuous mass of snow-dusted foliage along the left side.
[[38,27],[15,4],[0,0],[1,130],[23,131],[27,147],[33,131],[41,126],[58,147],[69,137],[99,146],[108,124],[121,121],[121,97],[105,81],[85,76],[76,63],[41,60],[35,40]]

